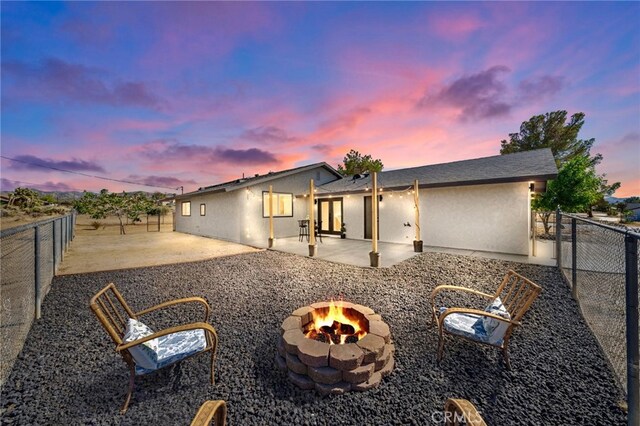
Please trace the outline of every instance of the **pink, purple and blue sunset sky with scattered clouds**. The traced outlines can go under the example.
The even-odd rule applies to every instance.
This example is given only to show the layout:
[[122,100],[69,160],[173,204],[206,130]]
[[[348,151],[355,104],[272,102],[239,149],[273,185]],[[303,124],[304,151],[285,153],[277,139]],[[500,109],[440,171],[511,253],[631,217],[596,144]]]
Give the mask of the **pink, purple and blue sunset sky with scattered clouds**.
[[[326,161],[499,153],[586,114],[640,195],[640,2],[2,2],[2,190],[175,192]],[[174,188],[170,190],[170,188]]]

